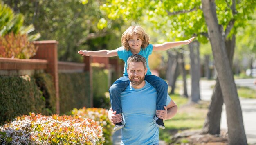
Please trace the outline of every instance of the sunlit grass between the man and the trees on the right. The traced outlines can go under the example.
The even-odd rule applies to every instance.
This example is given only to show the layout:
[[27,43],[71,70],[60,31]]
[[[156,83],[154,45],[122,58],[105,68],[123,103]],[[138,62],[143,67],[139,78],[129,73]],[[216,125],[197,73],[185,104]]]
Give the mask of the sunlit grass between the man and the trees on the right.
[[[209,102],[187,105],[188,99],[179,95],[171,95],[178,105],[178,113],[173,119],[164,121],[165,129],[159,130],[159,138],[172,143],[171,137],[182,130],[198,130],[204,125],[204,119],[208,111]],[[186,143],[186,141],[184,141]]]

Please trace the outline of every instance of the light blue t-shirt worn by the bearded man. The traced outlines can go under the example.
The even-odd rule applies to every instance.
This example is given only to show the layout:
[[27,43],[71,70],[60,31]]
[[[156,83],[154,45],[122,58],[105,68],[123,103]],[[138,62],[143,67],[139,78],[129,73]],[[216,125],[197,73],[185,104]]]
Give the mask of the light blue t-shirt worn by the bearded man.
[[[141,89],[129,84],[121,93],[121,104],[126,125],[122,128],[121,145],[153,145],[159,142],[159,128],[153,121],[157,91],[146,81]],[[171,102],[168,96],[166,106]]]

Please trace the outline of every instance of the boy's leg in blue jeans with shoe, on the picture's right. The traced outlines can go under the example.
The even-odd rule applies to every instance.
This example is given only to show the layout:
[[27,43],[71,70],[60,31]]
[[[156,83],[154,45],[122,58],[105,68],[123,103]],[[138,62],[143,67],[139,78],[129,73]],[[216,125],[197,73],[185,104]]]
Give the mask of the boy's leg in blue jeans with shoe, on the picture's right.
[[[166,106],[166,97],[168,95],[168,84],[166,81],[155,75],[146,75],[145,80],[148,81],[157,91],[156,110],[164,110]],[[153,119],[157,127],[164,129],[164,121],[157,116]]]

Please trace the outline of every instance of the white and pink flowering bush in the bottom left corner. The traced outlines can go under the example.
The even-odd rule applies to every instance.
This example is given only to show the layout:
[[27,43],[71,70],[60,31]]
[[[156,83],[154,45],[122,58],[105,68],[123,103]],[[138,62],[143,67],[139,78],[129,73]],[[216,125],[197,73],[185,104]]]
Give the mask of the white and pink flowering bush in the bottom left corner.
[[31,113],[0,127],[0,144],[103,144],[102,127],[92,119]]

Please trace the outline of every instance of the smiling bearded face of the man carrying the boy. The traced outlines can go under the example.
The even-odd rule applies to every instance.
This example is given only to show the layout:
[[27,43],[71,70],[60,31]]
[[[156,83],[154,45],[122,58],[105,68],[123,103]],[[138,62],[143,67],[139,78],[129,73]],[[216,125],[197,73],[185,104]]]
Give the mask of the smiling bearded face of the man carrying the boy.
[[133,85],[139,85],[144,81],[147,73],[142,62],[131,62],[127,68],[128,76]]

